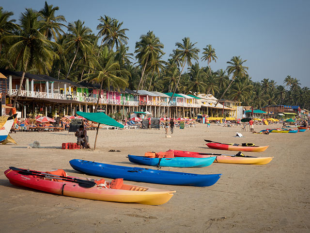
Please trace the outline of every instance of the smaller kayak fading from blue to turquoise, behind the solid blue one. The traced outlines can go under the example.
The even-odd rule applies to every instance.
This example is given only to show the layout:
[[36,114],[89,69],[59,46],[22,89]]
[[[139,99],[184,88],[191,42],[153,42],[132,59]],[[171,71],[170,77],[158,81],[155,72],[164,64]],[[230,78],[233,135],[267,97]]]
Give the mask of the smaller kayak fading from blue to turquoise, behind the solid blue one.
[[131,163],[148,166],[172,166],[172,167],[203,167],[210,166],[216,159],[216,156],[208,158],[150,158],[145,156],[136,156],[128,154]]

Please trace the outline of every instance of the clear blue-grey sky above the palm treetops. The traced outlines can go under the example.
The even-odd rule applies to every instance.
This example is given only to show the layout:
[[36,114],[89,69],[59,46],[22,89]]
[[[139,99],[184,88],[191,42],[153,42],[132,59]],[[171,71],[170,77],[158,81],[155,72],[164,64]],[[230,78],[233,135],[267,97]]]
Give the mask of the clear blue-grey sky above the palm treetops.
[[[40,10],[44,0],[5,0],[0,6],[18,19],[25,8]],[[190,37],[202,52],[211,44],[217,63],[226,69],[233,56],[247,60],[253,81],[264,78],[283,85],[287,75],[310,87],[310,0],[48,0],[67,22],[78,19],[97,33],[100,16],[123,21],[134,52],[141,34],[154,31],[168,59],[176,42]],[[202,54],[200,53],[201,57]],[[206,66],[200,60],[201,66]]]

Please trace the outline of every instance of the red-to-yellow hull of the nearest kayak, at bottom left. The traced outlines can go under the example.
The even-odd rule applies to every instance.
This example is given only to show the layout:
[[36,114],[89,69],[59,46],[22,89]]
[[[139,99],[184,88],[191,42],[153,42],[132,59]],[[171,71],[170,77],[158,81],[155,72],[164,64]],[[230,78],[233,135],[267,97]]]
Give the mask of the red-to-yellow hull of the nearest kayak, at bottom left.
[[[160,205],[169,201],[175,192],[129,184],[123,184],[121,189],[110,189],[98,186],[84,188],[80,187],[77,183],[55,182],[44,180],[33,175],[21,175],[18,171],[12,169],[6,170],[4,174],[9,179],[10,183],[17,186],[28,187],[57,195],[91,200]],[[109,183],[107,183],[107,185],[109,185]],[[130,189],[141,191],[132,191]]]

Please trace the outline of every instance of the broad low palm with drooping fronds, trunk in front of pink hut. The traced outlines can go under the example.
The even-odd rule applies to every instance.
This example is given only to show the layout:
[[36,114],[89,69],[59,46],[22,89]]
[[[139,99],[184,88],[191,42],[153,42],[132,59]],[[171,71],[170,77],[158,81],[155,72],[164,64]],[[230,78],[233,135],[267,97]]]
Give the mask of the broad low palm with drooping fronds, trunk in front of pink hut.
[[[128,75],[125,69],[121,70],[120,65],[114,60],[115,53],[109,50],[107,46],[100,51],[98,61],[93,68],[93,73],[85,74],[84,80],[100,83],[100,90],[98,95],[97,104],[95,107],[95,112],[99,105],[101,90],[103,85],[105,85],[109,90],[110,86],[120,89],[128,86],[128,82],[122,78],[122,76]],[[92,67],[89,67],[92,68]]]

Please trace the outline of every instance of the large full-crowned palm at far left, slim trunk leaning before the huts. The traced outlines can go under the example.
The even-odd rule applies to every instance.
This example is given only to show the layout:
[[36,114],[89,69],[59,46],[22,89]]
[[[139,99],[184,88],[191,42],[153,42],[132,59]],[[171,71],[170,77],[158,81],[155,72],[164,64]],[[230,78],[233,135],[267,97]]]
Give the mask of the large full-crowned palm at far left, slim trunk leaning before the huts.
[[42,21],[38,21],[39,13],[26,9],[20,18],[20,26],[17,27],[16,35],[7,35],[5,39],[11,39],[14,44],[8,50],[8,56],[12,61],[19,64],[23,71],[19,88],[13,102],[16,106],[16,100],[21,91],[25,73],[29,69],[39,70],[39,72],[47,72],[51,69],[51,62],[58,55],[51,50],[56,43],[47,40],[46,36],[40,33],[40,29],[44,26]]

